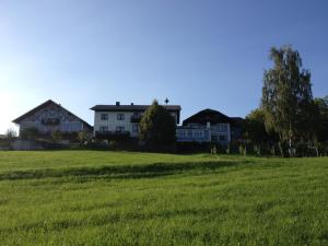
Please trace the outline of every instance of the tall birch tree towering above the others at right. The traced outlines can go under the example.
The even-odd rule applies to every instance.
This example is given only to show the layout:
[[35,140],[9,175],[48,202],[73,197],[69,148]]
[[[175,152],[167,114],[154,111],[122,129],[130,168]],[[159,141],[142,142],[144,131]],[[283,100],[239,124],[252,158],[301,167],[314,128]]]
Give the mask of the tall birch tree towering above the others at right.
[[291,46],[271,48],[269,58],[273,68],[265,71],[261,98],[267,130],[276,131],[282,142],[312,138],[311,72]]

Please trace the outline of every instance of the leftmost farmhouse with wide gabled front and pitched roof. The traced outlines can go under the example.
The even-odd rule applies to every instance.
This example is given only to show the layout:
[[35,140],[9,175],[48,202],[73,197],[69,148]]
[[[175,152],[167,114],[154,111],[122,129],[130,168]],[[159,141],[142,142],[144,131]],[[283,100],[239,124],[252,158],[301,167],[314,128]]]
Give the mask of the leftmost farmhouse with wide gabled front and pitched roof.
[[40,134],[51,134],[54,131],[92,131],[92,126],[51,99],[14,119],[13,122],[20,127],[20,134],[27,128],[35,128]]

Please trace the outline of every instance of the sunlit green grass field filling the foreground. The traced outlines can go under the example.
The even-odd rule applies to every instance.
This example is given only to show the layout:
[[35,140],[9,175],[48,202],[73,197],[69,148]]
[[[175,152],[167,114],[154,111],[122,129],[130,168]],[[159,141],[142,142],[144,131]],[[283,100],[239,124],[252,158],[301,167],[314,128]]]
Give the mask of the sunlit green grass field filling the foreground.
[[328,245],[328,159],[0,152],[0,245]]

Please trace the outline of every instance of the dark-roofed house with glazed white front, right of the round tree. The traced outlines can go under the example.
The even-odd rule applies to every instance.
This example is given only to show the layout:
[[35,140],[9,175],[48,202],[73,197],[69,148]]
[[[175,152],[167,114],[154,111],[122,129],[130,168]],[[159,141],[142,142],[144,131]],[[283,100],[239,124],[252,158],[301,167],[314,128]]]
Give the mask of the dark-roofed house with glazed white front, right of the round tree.
[[185,119],[183,126],[177,127],[177,141],[227,144],[241,137],[242,120],[208,108]]

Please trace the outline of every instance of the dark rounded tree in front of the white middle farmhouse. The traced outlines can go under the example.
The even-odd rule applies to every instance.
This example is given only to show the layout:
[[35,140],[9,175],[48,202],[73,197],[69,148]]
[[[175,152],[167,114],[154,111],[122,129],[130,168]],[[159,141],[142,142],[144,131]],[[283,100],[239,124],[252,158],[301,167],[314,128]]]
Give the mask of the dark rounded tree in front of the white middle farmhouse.
[[140,140],[151,148],[165,147],[175,142],[175,131],[174,117],[154,101],[140,120]]

